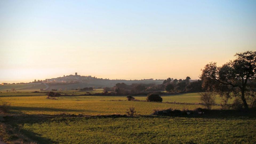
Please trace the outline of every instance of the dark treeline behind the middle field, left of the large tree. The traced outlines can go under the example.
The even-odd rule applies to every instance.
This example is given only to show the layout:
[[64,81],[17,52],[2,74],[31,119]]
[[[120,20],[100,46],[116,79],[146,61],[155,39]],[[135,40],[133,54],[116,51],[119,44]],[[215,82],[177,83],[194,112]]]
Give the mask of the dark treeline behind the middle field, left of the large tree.
[[117,94],[148,94],[152,92],[158,92],[161,94],[161,91],[167,91],[169,93],[185,93],[185,92],[201,92],[202,90],[202,81],[197,80],[190,82],[190,77],[186,79],[173,79],[167,78],[163,81],[162,84],[156,85],[145,84],[145,83],[133,83],[127,85],[125,83],[117,83],[114,87],[104,87],[104,93],[115,92]]

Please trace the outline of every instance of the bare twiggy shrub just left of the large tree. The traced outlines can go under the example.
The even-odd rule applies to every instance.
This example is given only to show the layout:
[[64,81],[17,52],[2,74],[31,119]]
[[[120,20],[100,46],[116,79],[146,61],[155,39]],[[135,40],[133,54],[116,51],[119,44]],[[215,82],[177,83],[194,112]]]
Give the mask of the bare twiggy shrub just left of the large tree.
[[212,92],[199,93],[200,100],[204,103],[204,106],[210,110],[215,105],[216,94]]

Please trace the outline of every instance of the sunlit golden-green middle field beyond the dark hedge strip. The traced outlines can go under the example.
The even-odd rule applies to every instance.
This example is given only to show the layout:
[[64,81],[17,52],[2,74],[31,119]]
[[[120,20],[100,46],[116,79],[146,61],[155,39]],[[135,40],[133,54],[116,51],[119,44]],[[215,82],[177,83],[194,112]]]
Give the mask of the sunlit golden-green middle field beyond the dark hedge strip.
[[[16,94],[16,93],[15,93]],[[23,93],[22,93],[23,94]],[[29,93],[37,94],[37,93]],[[42,93],[38,93],[42,94]],[[145,96],[135,97],[145,100]],[[184,94],[176,96],[163,96],[163,102],[199,102],[199,96]],[[46,99],[46,95],[1,97],[2,101],[11,103],[11,114],[83,114],[83,115],[109,115],[125,114],[129,107],[135,107],[140,115],[153,113],[154,109],[195,109],[202,105],[181,105],[159,102],[125,101],[125,96],[62,96],[57,100]],[[111,101],[114,100],[114,101]],[[120,101],[121,100],[121,101]],[[214,107],[218,109],[218,106]]]

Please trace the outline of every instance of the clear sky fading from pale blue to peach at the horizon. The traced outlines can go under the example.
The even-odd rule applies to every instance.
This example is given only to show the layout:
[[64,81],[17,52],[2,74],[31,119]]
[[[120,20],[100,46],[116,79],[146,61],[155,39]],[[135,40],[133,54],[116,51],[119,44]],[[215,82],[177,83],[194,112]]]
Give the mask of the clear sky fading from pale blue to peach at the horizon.
[[256,1],[0,1],[0,82],[198,79],[256,50]]

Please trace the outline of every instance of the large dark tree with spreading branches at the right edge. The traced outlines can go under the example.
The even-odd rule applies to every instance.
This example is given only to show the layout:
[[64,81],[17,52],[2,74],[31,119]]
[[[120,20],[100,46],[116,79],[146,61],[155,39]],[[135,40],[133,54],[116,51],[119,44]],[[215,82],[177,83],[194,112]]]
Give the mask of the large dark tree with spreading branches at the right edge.
[[[241,98],[248,109],[248,99],[255,97],[256,51],[236,53],[236,58],[222,66],[210,62],[202,69],[202,87],[221,96]],[[248,97],[248,99],[247,99]]]

